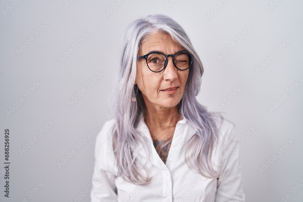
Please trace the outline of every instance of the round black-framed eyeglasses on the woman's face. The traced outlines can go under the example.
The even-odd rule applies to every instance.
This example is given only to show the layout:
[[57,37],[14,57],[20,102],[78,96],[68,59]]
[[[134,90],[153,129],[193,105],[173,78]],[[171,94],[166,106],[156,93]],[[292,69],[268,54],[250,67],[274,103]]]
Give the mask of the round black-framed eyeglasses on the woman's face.
[[179,70],[187,70],[192,64],[191,54],[186,51],[178,51],[175,54],[165,55],[158,51],[152,51],[146,55],[139,56],[137,59],[145,59],[148,68],[153,72],[160,72],[167,66],[167,57],[172,56],[175,67]]

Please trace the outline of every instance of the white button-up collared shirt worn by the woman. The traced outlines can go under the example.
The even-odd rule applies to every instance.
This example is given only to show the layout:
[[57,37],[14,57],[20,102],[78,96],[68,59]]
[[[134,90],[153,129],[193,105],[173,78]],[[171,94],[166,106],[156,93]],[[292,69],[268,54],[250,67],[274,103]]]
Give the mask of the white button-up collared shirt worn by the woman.
[[[231,141],[231,139],[236,140],[235,130],[233,124],[226,119],[219,129],[218,150],[212,153],[213,161],[220,165],[223,174],[218,178],[208,179],[192,172],[185,162],[185,145],[195,134],[186,118],[178,121],[175,127],[167,161],[164,164],[155,150],[143,114],[141,114],[137,129],[149,140],[149,161],[146,168],[150,176],[153,176],[151,183],[147,186],[138,186],[117,177],[110,131],[114,124],[115,120],[106,121],[96,138],[91,202],[244,201],[239,145],[236,141]],[[142,154],[138,155],[138,160],[144,164],[146,156],[141,144],[138,145],[138,151],[142,151]]]

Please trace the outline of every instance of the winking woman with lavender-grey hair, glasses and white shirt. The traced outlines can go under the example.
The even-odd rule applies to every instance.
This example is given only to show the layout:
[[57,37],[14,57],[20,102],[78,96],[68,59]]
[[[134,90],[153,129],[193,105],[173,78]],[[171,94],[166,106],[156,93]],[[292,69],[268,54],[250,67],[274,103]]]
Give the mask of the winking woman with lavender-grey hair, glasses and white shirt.
[[233,124],[195,98],[202,74],[174,20],[132,22],[114,119],[96,139],[92,202],[244,201]]

